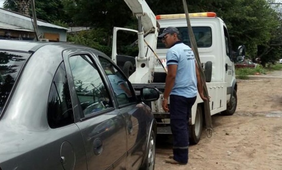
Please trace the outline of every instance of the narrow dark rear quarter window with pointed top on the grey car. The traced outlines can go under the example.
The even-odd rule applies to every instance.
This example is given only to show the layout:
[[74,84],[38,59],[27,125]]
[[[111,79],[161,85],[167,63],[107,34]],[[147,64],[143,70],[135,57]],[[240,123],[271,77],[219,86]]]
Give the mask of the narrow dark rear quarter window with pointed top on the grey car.
[[59,128],[74,123],[71,94],[62,62],[53,78],[48,100],[48,123],[51,128]]

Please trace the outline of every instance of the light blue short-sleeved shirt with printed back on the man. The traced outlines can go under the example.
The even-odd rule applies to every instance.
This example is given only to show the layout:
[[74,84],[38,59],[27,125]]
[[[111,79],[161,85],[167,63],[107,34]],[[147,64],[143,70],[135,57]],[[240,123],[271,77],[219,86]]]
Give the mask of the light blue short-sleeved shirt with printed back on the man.
[[177,65],[175,84],[170,94],[184,97],[197,95],[197,77],[194,52],[182,41],[177,41],[166,54],[166,65]]

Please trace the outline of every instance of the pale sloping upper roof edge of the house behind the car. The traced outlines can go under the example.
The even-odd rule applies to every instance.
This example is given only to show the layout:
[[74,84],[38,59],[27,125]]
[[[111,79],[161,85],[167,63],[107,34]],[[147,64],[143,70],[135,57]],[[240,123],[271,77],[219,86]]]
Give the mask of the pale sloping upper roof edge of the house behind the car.
[[[20,13],[18,13],[18,12],[6,10],[6,9],[3,9],[3,8],[0,8],[0,12],[1,12],[1,13],[4,13],[4,14],[7,14],[7,15],[11,15],[11,16],[17,17],[17,18],[20,18],[20,19],[24,19],[24,20],[28,20],[28,21],[31,20],[31,18],[30,18],[29,16],[20,14]],[[52,27],[52,28],[58,28],[58,29],[69,30],[68,28],[61,27],[61,26],[58,26],[58,25],[54,25],[54,24],[51,24],[51,23],[46,22],[46,21],[41,20],[41,19],[37,19],[37,25],[38,25],[38,26],[45,26],[45,27]]]

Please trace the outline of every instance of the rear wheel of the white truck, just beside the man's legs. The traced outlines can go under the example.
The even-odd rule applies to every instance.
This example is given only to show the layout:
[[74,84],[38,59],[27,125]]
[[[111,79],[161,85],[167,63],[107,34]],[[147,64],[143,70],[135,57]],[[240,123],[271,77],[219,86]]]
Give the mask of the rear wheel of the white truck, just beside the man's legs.
[[196,117],[195,117],[195,124],[190,126],[190,144],[195,145],[197,144],[202,135],[203,130],[203,113],[201,106],[197,106]]

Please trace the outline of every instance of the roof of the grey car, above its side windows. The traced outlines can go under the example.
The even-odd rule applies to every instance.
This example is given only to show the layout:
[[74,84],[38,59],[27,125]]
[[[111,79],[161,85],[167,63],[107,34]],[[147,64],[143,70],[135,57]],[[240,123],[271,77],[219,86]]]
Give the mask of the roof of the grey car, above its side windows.
[[32,52],[35,52],[40,47],[46,46],[46,45],[57,45],[57,46],[62,46],[66,49],[68,48],[91,49],[91,50],[100,52],[90,47],[72,44],[70,42],[41,42],[41,41],[0,39],[0,50],[23,51],[23,52],[32,53]]

